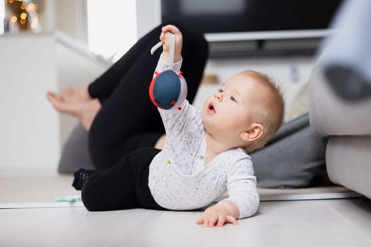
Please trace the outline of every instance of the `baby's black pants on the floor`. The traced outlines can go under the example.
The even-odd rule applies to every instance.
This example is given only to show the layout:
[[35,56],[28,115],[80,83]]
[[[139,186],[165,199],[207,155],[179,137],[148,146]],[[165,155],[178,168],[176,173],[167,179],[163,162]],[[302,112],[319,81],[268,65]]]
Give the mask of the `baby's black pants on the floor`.
[[90,175],[81,191],[85,207],[90,211],[148,208],[164,210],[148,188],[149,165],[160,150],[153,147],[136,150],[107,170]]

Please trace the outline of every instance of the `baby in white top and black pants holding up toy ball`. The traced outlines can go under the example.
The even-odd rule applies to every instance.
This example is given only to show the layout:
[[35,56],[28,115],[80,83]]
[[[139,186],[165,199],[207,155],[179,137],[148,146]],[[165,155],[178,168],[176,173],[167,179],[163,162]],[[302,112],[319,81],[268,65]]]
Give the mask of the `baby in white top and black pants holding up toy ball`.
[[[176,40],[172,68],[170,33]],[[166,25],[160,40],[163,53],[155,71],[179,72],[182,33],[174,25]],[[88,210],[109,210],[95,206],[99,200],[97,190],[107,188],[105,193],[113,193],[113,186],[128,190],[135,186],[135,195],[130,195],[133,198],[129,193],[128,198],[122,198],[126,193],[117,195],[128,203],[114,209],[194,210],[210,205],[228,191],[228,198],[207,207],[197,224],[237,224],[237,219],[254,215],[259,207],[257,180],[247,152],[263,147],[278,130],[283,121],[283,105],[283,97],[270,78],[244,71],[223,83],[215,95],[208,97],[201,111],[187,100],[180,110],[158,109],[166,131],[163,150],[137,150],[108,171],[91,174],[81,186],[83,203]],[[149,167],[148,175],[137,171],[139,166],[143,170]],[[79,171],[74,183],[82,177],[83,171]],[[106,183],[112,181],[117,183],[107,187]]]

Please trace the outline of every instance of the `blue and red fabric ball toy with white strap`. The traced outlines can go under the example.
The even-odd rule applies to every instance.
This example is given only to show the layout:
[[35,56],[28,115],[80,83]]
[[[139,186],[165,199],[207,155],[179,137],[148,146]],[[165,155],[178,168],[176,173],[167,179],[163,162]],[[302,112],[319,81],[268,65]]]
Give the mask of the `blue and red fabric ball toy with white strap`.
[[[174,62],[175,52],[175,35],[170,33],[170,68]],[[151,54],[156,49],[163,46],[162,42],[158,42],[151,49]],[[152,79],[149,86],[149,96],[152,103],[161,109],[181,109],[180,106],[187,96],[187,83],[182,72],[177,73],[171,69],[161,73],[155,72],[155,77]]]

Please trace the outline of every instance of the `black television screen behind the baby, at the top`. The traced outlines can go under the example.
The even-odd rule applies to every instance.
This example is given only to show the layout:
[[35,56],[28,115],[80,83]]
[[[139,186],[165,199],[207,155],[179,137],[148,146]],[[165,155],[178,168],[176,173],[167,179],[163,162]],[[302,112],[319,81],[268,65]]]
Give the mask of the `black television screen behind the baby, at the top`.
[[326,30],[341,0],[161,0],[161,19],[205,34]]

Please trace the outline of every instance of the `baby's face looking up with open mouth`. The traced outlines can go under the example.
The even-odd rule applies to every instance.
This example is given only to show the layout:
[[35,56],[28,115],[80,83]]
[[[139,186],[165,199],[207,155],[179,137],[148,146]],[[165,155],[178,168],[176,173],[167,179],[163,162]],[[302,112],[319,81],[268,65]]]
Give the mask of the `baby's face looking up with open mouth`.
[[254,123],[265,88],[254,78],[237,74],[206,100],[202,119],[206,131],[225,138],[238,138]]

